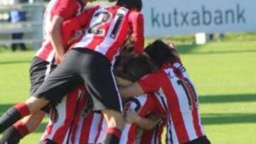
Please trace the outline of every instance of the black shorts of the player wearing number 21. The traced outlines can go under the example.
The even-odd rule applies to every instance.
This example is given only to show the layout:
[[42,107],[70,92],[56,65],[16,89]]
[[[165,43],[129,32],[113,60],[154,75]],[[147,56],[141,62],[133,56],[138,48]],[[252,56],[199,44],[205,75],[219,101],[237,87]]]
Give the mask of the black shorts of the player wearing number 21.
[[113,109],[122,112],[122,99],[110,61],[100,52],[85,48],[70,50],[34,96],[57,104],[81,83],[85,84],[95,111]]

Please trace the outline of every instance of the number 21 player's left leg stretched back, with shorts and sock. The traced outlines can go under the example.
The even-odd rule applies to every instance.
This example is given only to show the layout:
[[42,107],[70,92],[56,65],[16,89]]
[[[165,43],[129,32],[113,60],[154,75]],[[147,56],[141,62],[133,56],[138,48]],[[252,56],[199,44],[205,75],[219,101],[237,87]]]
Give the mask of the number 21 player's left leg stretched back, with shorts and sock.
[[[70,53],[70,52],[69,52]],[[34,96],[29,97],[26,102],[16,104],[6,111],[0,118],[0,133],[20,118],[39,111],[49,101],[58,103],[71,89],[80,84],[80,77],[75,74],[77,65],[70,58],[78,60],[77,55],[70,53],[65,60],[50,74],[48,79],[39,87]]]

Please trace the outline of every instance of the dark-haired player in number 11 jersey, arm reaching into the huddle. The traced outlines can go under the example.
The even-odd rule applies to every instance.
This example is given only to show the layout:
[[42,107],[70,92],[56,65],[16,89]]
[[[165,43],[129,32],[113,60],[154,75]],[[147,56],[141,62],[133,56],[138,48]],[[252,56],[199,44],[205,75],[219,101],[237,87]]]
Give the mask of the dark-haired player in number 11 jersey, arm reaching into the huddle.
[[[209,144],[198,112],[198,96],[178,52],[161,40],[146,47],[159,70],[120,89],[123,97],[156,94],[166,112],[166,143]],[[157,80],[156,80],[157,79]]]

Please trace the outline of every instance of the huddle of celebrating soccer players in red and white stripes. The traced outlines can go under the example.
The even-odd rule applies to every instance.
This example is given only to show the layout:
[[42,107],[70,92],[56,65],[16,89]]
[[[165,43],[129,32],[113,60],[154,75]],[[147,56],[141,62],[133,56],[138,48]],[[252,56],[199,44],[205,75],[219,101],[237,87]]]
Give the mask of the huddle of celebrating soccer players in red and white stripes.
[[[144,48],[141,0],[51,0],[31,62],[30,96],[0,117],[0,144],[50,121],[40,143],[209,144],[173,43]],[[115,0],[109,0],[113,2]]]

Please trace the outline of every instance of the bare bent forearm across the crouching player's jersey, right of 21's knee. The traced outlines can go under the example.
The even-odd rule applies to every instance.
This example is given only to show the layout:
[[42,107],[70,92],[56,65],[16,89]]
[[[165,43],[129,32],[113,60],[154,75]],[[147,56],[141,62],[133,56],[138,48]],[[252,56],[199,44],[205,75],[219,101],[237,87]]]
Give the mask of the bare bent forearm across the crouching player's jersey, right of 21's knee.
[[151,115],[144,118],[139,116],[135,111],[127,111],[125,118],[128,123],[136,123],[140,128],[145,130],[151,130],[161,121],[160,116]]

